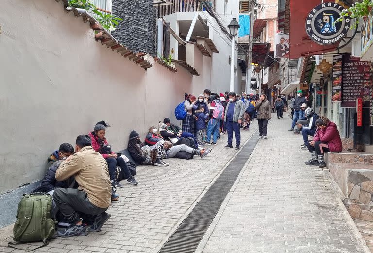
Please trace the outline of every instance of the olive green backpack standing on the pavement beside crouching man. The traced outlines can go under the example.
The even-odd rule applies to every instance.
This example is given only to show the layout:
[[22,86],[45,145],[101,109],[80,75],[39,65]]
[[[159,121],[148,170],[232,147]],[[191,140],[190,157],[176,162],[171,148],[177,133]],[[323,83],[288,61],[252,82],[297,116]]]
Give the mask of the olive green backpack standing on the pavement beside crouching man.
[[[19,242],[42,241],[44,247],[54,235],[56,224],[52,217],[52,196],[44,193],[23,194],[18,204],[17,221],[13,227],[13,239],[8,246]],[[17,249],[17,248],[16,248]],[[33,251],[27,250],[27,251]]]

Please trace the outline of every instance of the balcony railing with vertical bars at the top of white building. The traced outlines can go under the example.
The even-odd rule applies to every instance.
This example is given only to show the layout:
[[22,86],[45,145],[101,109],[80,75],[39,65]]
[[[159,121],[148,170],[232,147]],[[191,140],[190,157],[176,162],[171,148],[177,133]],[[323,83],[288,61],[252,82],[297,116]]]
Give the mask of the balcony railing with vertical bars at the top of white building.
[[[199,0],[168,0],[172,5],[158,7],[158,16],[166,16],[175,12],[195,12],[205,11],[203,4]],[[215,0],[205,0],[205,3],[215,9]]]

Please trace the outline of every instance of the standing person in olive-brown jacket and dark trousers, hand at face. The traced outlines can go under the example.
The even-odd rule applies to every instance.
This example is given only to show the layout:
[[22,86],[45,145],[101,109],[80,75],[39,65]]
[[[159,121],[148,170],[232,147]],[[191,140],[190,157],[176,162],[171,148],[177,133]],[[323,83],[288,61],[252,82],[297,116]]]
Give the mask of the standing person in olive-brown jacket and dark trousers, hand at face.
[[271,103],[267,100],[266,94],[262,94],[260,99],[256,101],[255,109],[258,113],[259,137],[266,140],[268,120],[272,118]]

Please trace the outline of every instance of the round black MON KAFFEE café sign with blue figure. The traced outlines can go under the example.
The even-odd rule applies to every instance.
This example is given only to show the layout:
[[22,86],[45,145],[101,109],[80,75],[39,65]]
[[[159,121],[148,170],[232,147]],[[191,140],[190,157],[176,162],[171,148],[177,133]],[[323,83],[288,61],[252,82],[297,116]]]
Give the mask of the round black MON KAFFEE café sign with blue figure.
[[342,21],[336,22],[343,10],[342,5],[334,2],[317,5],[305,22],[308,36],[321,45],[333,44],[343,39],[351,25],[350,16],[344,16]]

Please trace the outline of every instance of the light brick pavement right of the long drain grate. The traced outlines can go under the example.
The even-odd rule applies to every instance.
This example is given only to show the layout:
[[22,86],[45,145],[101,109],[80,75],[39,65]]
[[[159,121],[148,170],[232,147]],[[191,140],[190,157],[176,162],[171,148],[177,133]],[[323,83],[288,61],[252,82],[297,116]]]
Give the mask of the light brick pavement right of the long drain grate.
[[322,169],[305,166],[308,151],[287,131],[290,124],[270,121],[269,139],[259,140],[196,252],[369,252],[338,186]]

